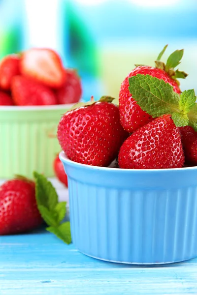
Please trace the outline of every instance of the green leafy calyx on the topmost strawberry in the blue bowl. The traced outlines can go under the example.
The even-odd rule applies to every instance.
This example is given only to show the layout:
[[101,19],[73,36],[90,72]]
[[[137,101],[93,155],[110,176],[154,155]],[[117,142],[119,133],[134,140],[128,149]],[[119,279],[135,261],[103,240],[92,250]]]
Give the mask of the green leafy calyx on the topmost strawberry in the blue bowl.
[[177,67],[180,62],[181,59],[183,57],[183,53],[184,53],[184,49],[181,50],[175,50],[167,59],[166,64],[163,61],[160,61],[160,59],[163,57],[164,52],[167,48],[168,44],[164,46],[163,50],[160,52],[158,58],[155,61],[156,64],[156,68],[162,69],[165,72],[168,73],[168,75],[176,80],[177,84],[179,85],[179,81],[177,81],[177,78],[183,78],[185,79],[188,74],[183,72],[183,71],[179,71],[179,69],[175,70],[175,67]]

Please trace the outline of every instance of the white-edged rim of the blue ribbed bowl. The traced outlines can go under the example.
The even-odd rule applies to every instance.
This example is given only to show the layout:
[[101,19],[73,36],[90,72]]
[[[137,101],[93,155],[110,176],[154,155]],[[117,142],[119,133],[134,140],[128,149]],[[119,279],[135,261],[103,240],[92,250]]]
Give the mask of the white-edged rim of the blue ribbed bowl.
[[68,164],[71,164],[72,166],[78,166],[78,167],[84,167],[86,169],[91,170],[100,170],[100,171],[113,171],[114,173],[120,173],[120,171],[123,172],[135,172],[135,173],[155,173],[155,172],[177,172],[177,171],[187,171],[187,170],[197,170],[197,166],[191,166],[191,167],[182,167],[182,168],[160,168],[160,169],[120,169],[120,168],[111,168],[111,167],[99,167],[99,166],[92,166],[92,165],[86,165],[81,164],[78,162],[74,162],[66,156],[65,152],[62,150],[59,153],[60,160],[63,160],[63,162],[67,162]]

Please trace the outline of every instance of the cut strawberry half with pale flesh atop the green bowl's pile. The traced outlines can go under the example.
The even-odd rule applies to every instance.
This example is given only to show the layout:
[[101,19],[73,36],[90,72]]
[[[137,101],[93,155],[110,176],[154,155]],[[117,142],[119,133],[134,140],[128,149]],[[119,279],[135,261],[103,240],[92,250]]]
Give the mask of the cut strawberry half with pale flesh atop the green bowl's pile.
[[47,48],[32,48],[21,58],[21,72],[52,88],[62,87],[66,80],[60,56]]

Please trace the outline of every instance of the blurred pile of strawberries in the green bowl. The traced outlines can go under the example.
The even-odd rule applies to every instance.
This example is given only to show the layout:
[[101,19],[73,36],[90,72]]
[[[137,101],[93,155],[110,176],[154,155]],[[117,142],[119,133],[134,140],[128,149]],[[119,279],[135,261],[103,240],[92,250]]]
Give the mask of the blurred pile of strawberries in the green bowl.
[[81,80],[51,49],[32,48],[0,62],[0,106],[76,103]]

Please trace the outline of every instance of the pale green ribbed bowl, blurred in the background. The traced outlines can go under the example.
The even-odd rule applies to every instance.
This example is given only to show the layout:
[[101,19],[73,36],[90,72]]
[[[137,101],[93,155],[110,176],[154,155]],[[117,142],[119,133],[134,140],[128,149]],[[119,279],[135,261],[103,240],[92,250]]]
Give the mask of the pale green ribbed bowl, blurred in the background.
[[72,105],[0,106],[0,178],[33,171],[53,177],[53,160],[61,150],[58,123]]

